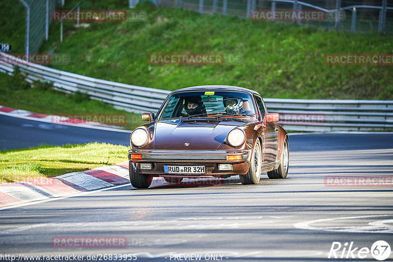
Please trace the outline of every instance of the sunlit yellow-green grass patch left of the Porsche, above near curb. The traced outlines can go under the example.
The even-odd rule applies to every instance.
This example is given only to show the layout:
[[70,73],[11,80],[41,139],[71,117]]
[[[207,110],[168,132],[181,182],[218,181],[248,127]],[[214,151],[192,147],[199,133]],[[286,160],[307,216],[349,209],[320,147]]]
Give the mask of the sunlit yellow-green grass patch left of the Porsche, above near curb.
[[56,177],[127,160],[128,147],[106,143],[0,151],[0,183]]

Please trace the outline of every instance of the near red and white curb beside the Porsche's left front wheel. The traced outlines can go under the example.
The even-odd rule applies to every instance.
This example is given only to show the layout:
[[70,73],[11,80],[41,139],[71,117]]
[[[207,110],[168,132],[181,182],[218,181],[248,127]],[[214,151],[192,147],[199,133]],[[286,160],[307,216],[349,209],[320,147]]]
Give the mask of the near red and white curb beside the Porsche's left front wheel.
[[0,184],[0,207],[129,183],[128,161],[55,178]]

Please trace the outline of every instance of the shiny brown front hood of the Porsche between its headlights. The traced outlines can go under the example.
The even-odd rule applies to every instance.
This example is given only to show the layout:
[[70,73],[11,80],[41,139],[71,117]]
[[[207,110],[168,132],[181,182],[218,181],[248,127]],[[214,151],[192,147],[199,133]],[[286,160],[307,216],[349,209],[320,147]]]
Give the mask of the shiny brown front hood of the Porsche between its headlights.
[[243,124],[240,121],[214,119],[160,120],[156,122],[154,149],[217,150],[228,132]]

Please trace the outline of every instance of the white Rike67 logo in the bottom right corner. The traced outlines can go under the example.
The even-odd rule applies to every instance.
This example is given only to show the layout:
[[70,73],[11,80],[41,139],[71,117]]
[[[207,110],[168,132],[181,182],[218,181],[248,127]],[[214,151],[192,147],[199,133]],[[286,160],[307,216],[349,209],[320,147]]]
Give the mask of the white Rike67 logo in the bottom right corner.
[[365,259],[369,255],[379,261],[386,260],[391,254],[391,247],[388,242],[378,240],[368,247],[355,247],[353,241],[345,242],[343,245],[340,242],[333,242],[330,248],[328,259]]

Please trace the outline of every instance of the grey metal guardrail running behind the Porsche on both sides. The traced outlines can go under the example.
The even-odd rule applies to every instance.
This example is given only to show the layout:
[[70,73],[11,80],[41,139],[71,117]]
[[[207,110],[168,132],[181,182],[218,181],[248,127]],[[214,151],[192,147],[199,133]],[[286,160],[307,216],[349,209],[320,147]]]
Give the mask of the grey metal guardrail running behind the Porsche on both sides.
[[[64,93],[87,93],[91,99],[129,112],[156,112],[169,91],[85,77],[26,62],[0,53],[0,71],[12,75],[14,65],[26,80],[51,82]],[[269,112],[280,113],[280,124],[292,131],[393,130],[393,101],[264,99]]]

